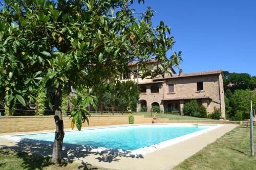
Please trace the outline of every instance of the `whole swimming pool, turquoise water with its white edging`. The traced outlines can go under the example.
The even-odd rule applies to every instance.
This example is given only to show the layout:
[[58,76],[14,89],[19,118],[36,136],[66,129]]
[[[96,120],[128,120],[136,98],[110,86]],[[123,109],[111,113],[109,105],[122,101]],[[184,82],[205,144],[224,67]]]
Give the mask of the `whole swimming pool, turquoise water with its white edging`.
[[[63,143],[101,149],[129,150],[134,153],[148,153],[152,148],[159,149],[177,143],[220,125],[198,124],[144,124],[115,126],[107,128],[66,131]],[[34,133],[11,135],[13,139],[34,141],[54,141],[54,133]],[[155,150],[154,149],[154,150]]]

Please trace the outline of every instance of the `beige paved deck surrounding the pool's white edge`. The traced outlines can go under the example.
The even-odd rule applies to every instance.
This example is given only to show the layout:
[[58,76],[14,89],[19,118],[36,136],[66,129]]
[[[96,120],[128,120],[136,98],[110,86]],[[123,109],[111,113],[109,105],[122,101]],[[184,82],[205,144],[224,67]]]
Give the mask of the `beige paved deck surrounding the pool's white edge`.
[[[229,132],[237,126],[238,125],[224,124],[222,127],[219,127],[217,129],[211,130],[193,138],[186,139],[164,149],[160,149],[145,155],[126,157],[115,153],[94,153],[90,150],[84,151],[81,149],[63,148],[62,158],[75,160],[82,163],[90,163],[95,166],[110,169],[171,169],[181,163],[186,158],[194,155],[195,153],[206,147],[207,144],[214,142],[216,139],[220,138],[225,133]],[[36,131],[31,133],[37,132],[52,132],[52,130]],[[4,133],[0,134],[0,136],[25,133],[30,132]],[[51,145],[16,142],[3,138],[0,138],[0,147],[5,149],[9,148],[18,151],[31,152],[44,156],[52,154]]]

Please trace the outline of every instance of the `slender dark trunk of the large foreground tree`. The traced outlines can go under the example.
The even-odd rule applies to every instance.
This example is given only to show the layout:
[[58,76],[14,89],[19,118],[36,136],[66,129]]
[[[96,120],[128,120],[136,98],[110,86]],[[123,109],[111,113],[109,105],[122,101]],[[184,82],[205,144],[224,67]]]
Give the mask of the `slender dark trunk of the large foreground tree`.
[[64,138],[63,120],[62,120],[62,113],[61,113],[61,95],[62,95],[61,86],[59,83],[57,83],[56,90],[55,90],[55,116],[54,116],[56,131],[55,131],[53,153],[52,153],[52,163],[55,163],[55,164],[60,164],[61,162],[62,142]]

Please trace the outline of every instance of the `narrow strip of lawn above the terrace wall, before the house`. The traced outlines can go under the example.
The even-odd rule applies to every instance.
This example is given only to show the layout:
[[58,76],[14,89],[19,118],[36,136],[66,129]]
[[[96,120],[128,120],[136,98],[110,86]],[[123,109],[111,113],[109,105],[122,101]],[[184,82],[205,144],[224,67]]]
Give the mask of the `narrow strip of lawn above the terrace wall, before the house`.
[[[150,112],[134,112],[134,115],[151,116]],[[100,113],[91,113],[91,115],[101,115]],[[103,113],[103,115],[112,115],[112,113]],[[121,113],[114,113],[114,115],[121,115]],[[127,115],[127,113],[123,113],[123,115]],[[156,115],[159,118],[168,118],[169,120],[206,120],[206,121],[218,121],[216,119],[210,118],[200,118],[200,117],[192,117],[192,116],[184,116],[178,114],[162,114],[162,113],[152,113],[152,115]]]

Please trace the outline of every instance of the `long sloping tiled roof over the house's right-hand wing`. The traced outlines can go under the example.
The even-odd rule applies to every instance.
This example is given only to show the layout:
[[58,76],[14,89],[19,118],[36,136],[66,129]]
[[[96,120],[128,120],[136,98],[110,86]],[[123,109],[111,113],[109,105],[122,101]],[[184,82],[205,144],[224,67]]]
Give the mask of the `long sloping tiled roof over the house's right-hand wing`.
[[191,72],[191,73],[182,73],[181,75],[172,75],[164,78],[155,78],[153,80],[164,80],[164,79],[175,79],[181,77],[194,77],[194,76],[203,76],[203,75],[215,75],[221,74],[222,70],[210,70],[210,71],[201,71],[201,72]]

